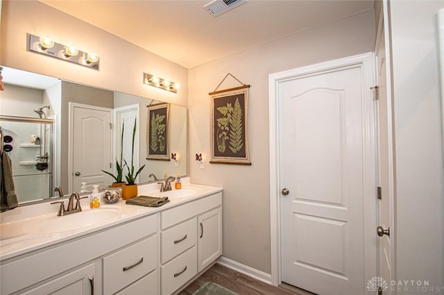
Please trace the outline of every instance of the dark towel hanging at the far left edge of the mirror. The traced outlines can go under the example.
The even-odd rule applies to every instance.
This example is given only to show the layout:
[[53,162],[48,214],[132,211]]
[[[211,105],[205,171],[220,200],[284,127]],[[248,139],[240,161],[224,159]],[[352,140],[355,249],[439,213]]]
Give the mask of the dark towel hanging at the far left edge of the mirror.
[[11,159],[6,152],[0,154],[0,212],[19,206],[12,179]]

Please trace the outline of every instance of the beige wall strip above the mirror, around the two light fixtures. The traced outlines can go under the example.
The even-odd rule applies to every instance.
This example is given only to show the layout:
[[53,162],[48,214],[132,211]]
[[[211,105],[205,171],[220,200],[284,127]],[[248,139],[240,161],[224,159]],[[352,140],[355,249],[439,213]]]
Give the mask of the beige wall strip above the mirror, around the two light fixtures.
[[[187,69],[35,0],[2,1],[0,64],[103,89],[187,105]],[[101,58],[100,71],[26,51],[26,33]],[[178,93],[142,84],[142,73],[179,82]]]

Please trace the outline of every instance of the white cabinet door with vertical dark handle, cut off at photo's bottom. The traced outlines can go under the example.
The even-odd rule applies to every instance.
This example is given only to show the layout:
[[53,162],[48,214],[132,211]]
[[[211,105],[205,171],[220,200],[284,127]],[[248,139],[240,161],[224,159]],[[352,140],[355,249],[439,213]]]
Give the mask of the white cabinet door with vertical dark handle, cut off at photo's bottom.
[[94,263],[80,269],[57,276],[49,282],[28,290],[22,294],[58,294],[58,295],[89,295],[94,294]]

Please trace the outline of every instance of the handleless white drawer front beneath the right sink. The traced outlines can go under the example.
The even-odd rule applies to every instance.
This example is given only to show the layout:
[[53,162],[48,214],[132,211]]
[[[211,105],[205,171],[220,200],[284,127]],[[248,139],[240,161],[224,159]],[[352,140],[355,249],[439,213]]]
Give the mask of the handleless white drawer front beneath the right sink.
[[194,202],[189,202],[181,206],[162,211],[160,213],[160,224],[162,229],[178,224],[191,217],[199,215],[205,211],[222,205],[222,193],[216,193],[208,197],[203,197]]

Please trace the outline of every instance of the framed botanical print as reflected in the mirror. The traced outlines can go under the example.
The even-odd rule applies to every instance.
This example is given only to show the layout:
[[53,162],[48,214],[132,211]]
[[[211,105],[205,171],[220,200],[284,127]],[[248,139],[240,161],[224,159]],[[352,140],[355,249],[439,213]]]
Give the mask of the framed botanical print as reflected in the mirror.
[[169,161],[168,116],[169,103],[148,105],[146,120],[146,159]]

